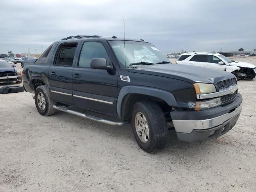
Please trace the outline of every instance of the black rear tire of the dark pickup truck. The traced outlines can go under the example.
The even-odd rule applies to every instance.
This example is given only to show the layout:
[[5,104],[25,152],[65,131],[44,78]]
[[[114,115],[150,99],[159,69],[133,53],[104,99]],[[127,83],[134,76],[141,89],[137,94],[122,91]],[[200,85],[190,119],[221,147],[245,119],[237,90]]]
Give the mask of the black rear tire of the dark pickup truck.
[[[45,100],[44,108],[40,108],[40,106],[38,106],[38,98],[39,98],[38,94],[40,94],[40,96],[41,95],[44,96],[44,100]],[[56,109],[52,107],[55,104],[55,102],[51,99],[49,88],[46,85],[41,85],[36,88],[35,104],[36,104],[36,109],[43,116],[49,116],[56,112]]]

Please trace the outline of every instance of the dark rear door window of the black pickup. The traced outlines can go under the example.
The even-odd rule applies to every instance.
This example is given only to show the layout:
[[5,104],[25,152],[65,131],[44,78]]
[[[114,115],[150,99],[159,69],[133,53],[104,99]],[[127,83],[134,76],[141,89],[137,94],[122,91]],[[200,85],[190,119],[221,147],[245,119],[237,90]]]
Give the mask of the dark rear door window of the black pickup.
[[76,52],[76,46],[76,43],[61,44],[55,56],[54,65],[71,67]]

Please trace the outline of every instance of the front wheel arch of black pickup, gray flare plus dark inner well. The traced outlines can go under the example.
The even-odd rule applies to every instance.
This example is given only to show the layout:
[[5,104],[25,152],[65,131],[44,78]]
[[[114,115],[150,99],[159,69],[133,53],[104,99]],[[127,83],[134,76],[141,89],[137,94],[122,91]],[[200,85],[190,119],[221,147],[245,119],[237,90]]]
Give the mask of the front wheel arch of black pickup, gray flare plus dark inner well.
[[128,120],[133,104],[146,99],[172,107],[178,106],[174,95],[165,90],[145,86],[124,86],[117,100],[118,117]]

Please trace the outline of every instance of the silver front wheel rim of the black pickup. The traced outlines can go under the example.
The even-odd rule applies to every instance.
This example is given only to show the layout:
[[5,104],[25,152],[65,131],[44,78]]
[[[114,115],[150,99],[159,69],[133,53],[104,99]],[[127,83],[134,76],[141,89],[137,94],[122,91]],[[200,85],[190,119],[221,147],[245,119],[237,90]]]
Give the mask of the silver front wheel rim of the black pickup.
[[142,112],[138,112],[135,116],[136,133],[143,143],[148,142],[149,129],[148,121]]

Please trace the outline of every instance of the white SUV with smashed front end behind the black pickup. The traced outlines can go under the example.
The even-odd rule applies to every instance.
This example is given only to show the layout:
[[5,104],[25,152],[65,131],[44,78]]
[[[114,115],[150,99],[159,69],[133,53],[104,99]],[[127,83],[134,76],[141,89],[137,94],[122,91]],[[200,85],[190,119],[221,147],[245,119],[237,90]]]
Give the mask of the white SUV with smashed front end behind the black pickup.
[[239,79],[254,79],[256,76],[255,65],[230,60],[217,52],[183,53],[176,63],[224,70],[233,73]]

